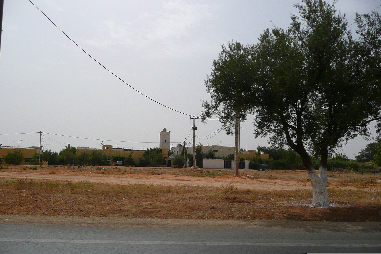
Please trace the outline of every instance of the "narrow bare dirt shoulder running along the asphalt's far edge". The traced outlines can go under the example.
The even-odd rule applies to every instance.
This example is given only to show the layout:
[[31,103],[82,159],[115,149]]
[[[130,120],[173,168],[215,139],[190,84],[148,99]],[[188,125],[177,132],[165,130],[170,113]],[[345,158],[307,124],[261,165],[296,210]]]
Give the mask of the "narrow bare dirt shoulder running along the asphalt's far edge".
[[0,224],[81,225],[109,227],[221,227],[381,230],[381,222],[327,222],[297,220],[187,220],[12,215],[0,215]]

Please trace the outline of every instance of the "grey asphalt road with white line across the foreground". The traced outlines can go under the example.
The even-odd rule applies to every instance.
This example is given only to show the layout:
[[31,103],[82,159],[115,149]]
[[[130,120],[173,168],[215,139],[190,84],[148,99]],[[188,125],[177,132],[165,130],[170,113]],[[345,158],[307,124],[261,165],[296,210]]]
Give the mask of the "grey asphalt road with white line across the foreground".
[[0,224],[0,253],[366,253],[381,230]]

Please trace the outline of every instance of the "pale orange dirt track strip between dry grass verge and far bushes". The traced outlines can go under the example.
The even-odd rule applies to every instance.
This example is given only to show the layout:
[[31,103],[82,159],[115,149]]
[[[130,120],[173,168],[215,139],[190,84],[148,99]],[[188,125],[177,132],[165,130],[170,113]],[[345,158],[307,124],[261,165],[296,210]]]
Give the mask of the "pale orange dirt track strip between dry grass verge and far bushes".
[[[229,169],[182,169],[182,168],[143,168],[143,167],[77,167],[70,166],[46,166],[38,167],[37,170],[22,170],[23,166],[9,166],[8,169],[1,169],[0,178],[18,179],[27,178],[36,181],[71,181],[71,182],[93,182],[112,185],[146,184],[146,185],[166,185],[166,186],[204,186],[221,187],[226,184],[234,184],[240,189],[257,190],[295,190],[311,189],[311,184],[307,182],[306,171],[254,171],[248,169],[240,170],[244,176],[232,176]],[[225,172],[231,175],[222,176],[197,176],[197,172]],[[338,184],[341,179],[359,179],[372,177],[381,180],[381,175],[373,177],[359,174],[328,174],[328,187],[356,189],[359,185]],[[360,188],[372,187],[362,185]]]

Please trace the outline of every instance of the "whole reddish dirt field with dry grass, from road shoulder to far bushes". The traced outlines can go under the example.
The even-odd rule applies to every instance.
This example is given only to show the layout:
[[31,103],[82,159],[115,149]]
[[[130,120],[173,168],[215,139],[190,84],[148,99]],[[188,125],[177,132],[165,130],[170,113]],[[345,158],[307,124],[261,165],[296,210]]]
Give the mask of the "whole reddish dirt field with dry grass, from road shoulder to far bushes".
[[380,174],[330,173],[333,207],[312,208],[300,170],[24,167],[0,171],[0,216],[381,221]]

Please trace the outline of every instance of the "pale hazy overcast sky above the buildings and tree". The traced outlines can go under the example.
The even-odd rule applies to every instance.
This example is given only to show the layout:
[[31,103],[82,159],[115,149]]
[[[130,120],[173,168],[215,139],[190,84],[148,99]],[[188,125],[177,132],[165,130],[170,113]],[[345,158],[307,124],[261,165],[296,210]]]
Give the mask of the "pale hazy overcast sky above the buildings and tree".
[[[287,29],[296,0],[160,1],[32,0],[95,59],[152,99],[199,115],[209,99],[204,79],[229,40],[253,44],[272,23]],[[301,1],[299,1],[300,3]],[[339,0],[347,14],[368,13],[379,0]],[[377,11],[380,12],[381,8]],[[352,25],[353,29],[355,27]],[[0,134],[42,131],[104,141],[123,148],[158,146],[159,132],[171,144],[191,131],[188,116],[150,101],[77,48],[28,0],[5,0],[0,59]],[[253,119],[242,123],[240,148],[255,150],[267,139],[253,138]],[[199,137],[221,126],[196,120]],[[99,147],[101,141],[43,134],[48,150],[64,144]],[[37,145],[39,134],[0,135],[0,144]],[[191,141],[189,135],[187,141]],[[224,131],[203,145],[234,146]],[[152,142],[152,143],[137,143]],[[354,158],[370,141],[358,137],[344,146]],[[18,145],[16,143],[16,145]]]

